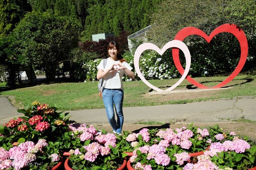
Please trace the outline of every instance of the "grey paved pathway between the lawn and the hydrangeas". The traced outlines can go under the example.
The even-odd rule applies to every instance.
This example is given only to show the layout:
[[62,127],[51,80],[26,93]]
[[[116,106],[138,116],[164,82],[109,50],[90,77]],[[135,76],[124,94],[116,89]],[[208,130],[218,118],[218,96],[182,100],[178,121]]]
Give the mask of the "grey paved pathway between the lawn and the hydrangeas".
[[[105,109],[66,111],[70,120],[79,123],[107,124]],[[230,123],[239,118],[256,121],[256,98],[244,96],[232,100],[194,102],[189,104],[123,108],[125,123],[138,121],[180,123]],[[0,97],[0,124],[22,116],[8,98]]]

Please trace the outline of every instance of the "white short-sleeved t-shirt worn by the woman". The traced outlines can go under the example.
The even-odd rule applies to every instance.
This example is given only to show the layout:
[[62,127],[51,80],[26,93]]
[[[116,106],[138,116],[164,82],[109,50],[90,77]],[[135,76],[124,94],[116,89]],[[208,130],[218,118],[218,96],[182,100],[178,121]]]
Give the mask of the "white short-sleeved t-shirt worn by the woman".
[[[111,60],[110,58],[108,58],[107,65],[105,66],[105,69],[103,66],[103,60],[101,60],[101,62],[97,66],[97,68],[105,71],[106,69],[110,68],[113,64],[117,64],[117,63],[120,63],[119,60],[114,61],[114,60]],[[133,69],[127,62],[122,62],[120,64],[125,66],[130,71]],[[118,71],[108,72],[103,77],[104,81],[103,81],[102,87],[104,87],[106,89],[122,89],[123,90],[123,83],[122,83],[123,74],[127,75],[127,73],[123,69],[120,69]]]

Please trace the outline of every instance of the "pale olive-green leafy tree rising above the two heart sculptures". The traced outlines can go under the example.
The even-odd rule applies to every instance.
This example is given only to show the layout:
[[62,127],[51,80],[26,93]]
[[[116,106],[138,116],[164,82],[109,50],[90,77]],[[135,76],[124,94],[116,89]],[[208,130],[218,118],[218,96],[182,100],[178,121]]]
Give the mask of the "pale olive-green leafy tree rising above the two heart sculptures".
[[223,0],[165,0],[152,15],[151,42],[163,46],[184,27],[196,27],[207,34],[225,23]]

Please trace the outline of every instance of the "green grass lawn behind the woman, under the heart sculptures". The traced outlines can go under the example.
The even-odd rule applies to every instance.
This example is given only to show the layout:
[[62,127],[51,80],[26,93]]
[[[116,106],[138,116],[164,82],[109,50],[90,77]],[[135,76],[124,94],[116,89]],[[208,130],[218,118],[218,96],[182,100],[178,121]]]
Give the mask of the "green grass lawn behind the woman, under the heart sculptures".
[[[213,87],[225,80],[227,77],[199,77],[196,81],[205,86]],[[178,81],[171,80],[149,80],[151,84],[167,89]],[[40,84],[33,87],[25,87],[15,90],[0,92],[1,96],[9,96],[17,108],[24,108],[33,101],[39,101],[49,105],[55,105],[59,110],[82,110],[104,108],[102,99],[98,96],[98,82],[86,83],[52,83]],[[0,83],[3,88],[5,83]],[[256,75],[238,75],[223,90],[211,90],[205,92],[173,93],[166,95],[149,95],[152,89],[143,81],[123,82],[124,102],[123,107],[183,104],[195,101],[219,100],[222,98],[233,98],[235,96],[256,95]],[[232,88],[225,88],[232,87]],[[195,88],[187,80],[184,80],[174,90]]]

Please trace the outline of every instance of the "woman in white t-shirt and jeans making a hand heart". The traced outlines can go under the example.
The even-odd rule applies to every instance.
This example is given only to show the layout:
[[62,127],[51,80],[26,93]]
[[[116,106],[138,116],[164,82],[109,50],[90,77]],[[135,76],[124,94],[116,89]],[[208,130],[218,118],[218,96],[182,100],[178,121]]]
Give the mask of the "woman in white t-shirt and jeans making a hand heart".
[[[126,62],[120,53],[119,45],[116,41],[111,41],[107,46],[107,65],[103,66],[103,61],[97,66],[97,79],[103,78],[102,98],[107,111],[108,121],[113,128],[113,132],[121,134],[123,127],[123,74],[134,79],[133,68]],[[114,115],[116,110],[117,121]]]

